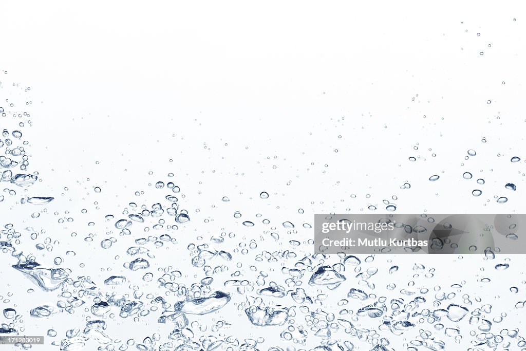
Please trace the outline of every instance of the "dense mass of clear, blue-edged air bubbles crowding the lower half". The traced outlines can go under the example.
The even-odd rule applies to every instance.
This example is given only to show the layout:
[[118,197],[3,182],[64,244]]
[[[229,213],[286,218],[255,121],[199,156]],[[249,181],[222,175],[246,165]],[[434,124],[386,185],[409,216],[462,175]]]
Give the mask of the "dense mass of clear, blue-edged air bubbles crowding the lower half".
[[[23,127],[31,124],[29,114],[13,112],[16,106],[6,103],[0,107],[3,124],[24,120],[17,129],[3,129],[0,141],[4,193],[15,196],[39,178],[38,172],[28,172]],[[473,149],[467,154],[480,157]],[[430,174],[430,182],[442,182]],[[505,287],[508,310],[494,308],[493,296],[478,294],[482,285],[503,283],[500,274],[513,269],[507,257],[487,250],[480,256],[487,269],[482,275],[446,283],[436,278],[439,268],[393,262],[387,255],[314,254],[312,223],[304,219],[310,218],[304,209],[295,209],[295,217],[269,219],[247,215],[227,196],[216,206],[239,207],[210,233],[191,220],[181,195],[184,184],[173,177],[156,179],[146,190],[155,200],[140,203],[134,196],[118,211],[89,222],[84,232],[104,227],[98,234],[70,233],[80,249],[64,248],[64,233],[18,228],[3,217],[6,280],[22,284],[25,293],[18,296],[7,287],[0,292],[0,336],[35,334],[29,327],[36,325],[47,344],[64,351],[417,351],[458,349],[464,343],[472,350],[526,349],[516,319],[509,316],[526,306],[520,296],[524,288]],[[464,172],[462,178],[473,176]],[[401,186],[410,188],[410,183]],[[515,192],[517,186],[505,183],[502,189]],[[258,193],[261,208],[272,202],[264,189],[256,198]],[[472,194],[480,196],[482,190]],[[383,200],[388,212],[397,210],[397,199]],[[24,195],[16,206],[47,209],[53,200]],[[508,197],[496,201],[506,203]],[[372,204],[367,208],[377,210]],[[65,254],[54,254],[59,249]],[[86,269],[89,274],[82,273]]]

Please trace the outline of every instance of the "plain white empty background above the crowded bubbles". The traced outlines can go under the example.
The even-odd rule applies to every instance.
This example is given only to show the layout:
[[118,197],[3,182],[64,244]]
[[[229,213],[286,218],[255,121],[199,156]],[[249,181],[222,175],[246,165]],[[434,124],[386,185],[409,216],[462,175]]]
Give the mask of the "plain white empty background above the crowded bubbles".
[[[339,180],[341,198],[376,204],[420,170],[457,181],[468,148],[488,149],[486,172],[518,151],[524,24],[488,4],[3,2],[1,62],[33,88],[34,159],[61,184],[138,187],[172,158],[181,178],[216,169],[222,189],[235,172],[294,179],[317,202]],[[407,165],[416,143],[426,166]],[[443,210],[434,190],[406,210]]]

